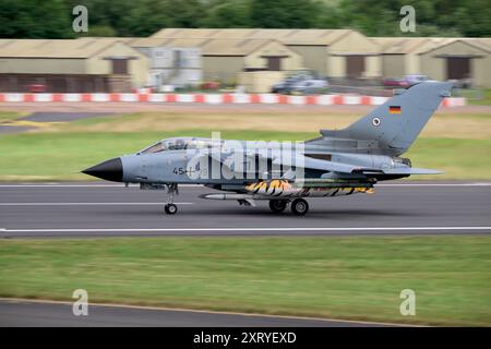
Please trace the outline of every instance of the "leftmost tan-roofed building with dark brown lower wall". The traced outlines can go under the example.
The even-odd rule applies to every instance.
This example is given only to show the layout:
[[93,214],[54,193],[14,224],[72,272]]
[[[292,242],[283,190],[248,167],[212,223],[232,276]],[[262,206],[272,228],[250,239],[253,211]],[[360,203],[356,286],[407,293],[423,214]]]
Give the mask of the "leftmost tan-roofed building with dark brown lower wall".
[[144,86],[148,59],[113,38],[0,39],[0,91],[130,92]]

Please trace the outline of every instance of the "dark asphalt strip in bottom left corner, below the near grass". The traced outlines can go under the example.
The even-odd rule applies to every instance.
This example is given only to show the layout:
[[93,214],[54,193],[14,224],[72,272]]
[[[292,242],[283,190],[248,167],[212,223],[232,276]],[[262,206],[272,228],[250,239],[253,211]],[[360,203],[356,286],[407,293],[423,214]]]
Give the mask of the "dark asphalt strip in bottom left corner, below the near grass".
[[306,317],[91,305],[91,303],[88,303],[88,315],[75,316],[70,303],[0,300],[0,327],[366,327],[383,325]]

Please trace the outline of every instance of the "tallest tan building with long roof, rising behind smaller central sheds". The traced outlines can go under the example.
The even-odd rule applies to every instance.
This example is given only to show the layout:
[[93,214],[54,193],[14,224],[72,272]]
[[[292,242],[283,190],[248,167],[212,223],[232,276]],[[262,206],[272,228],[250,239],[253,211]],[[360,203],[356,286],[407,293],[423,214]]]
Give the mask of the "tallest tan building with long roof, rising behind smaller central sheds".
[[331,79],[382,75],[376,41],[351,29],[183,29],[165,28],[152,38],[270,39],[299,53],[307,69]]

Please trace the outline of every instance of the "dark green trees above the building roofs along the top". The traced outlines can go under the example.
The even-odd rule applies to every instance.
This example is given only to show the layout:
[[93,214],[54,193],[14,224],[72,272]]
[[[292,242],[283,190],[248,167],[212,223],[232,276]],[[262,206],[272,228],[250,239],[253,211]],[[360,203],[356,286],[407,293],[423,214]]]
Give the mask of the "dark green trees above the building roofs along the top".
[[[0,37],[72,38],[72,9],[88,36],[148,36],[165,27],[354,28],[368,36],[491,36],[490,0],[0,0]],[[416,32],[399,29],[403,5]]]

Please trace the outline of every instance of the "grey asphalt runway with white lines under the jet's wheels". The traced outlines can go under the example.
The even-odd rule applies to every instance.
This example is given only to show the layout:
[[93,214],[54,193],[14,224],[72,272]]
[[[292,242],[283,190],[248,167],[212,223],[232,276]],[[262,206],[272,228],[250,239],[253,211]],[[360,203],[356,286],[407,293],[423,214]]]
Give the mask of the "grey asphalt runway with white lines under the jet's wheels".
[[0,237],[345,236],[491,233],[491,183],[386,182],[374,194],[310,198],[304,217],[243,207],[182,188],[179,212],[166,193],[118,184],[0,184]]

